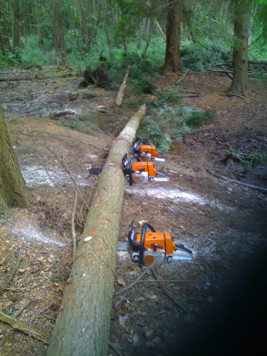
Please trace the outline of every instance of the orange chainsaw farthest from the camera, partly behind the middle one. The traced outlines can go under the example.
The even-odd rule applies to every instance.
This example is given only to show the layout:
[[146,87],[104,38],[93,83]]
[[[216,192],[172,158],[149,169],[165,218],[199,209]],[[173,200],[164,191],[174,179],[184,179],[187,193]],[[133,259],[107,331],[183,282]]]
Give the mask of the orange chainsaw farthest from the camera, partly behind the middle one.
[[[155,146],[148,145],[143,140],[137,140],[136,138],[132,141],[132,148],[129,149],[130,155],[137,155],[142,161],[150,162],[165,162],[166,157],[162,153],[157,152]],[[159,158],[158,156],[162,157]]]

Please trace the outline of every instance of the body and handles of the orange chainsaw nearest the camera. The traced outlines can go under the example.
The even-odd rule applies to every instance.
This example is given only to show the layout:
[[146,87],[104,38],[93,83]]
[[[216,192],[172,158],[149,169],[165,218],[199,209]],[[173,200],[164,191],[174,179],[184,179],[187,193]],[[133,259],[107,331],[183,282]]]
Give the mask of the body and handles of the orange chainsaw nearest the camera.
[[[149,229],[150,231],[146,231]],[[193,252],[183,245],[173,242],[169,232],[157,232],[148,223],[143,224],[141,233],[133,229],[133,221],[128,233],[132,258],[139,261],[139,266],[150,265],[155,260],[155,265],[162,265],[165,261],[192,260]]]

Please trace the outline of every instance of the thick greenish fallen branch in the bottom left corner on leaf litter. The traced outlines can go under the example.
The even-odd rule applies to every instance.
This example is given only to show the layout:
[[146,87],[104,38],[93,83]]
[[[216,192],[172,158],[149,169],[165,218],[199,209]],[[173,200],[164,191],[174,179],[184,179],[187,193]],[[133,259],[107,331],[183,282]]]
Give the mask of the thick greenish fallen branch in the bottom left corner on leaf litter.
[[36,337],[36,339],[41,340],[46,344],[49,344],[50,342],[50,336],[44,331],[34,328],[33,326],[30,326],[29,328],[28,324],[23,323],[22,321],[19,321],[10,315],[0,312],[0,320],[4,323],[10,324],[14,329],[18,329],[23,331],[23,333]]

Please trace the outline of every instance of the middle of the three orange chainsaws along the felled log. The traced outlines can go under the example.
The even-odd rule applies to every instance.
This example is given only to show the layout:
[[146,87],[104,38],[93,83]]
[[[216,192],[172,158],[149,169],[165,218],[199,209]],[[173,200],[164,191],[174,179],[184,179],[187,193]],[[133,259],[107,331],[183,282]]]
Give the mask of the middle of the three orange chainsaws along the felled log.
[[[134,162],[136,161],[136,162]],[[138,156],[127,160],[127,153],[122,157],[122,167],[125,178],[130,185],[133,183],[145,184],[148,182],[168,182],[169,176],[162,171],[156,171],[152,162],[143,162]]]

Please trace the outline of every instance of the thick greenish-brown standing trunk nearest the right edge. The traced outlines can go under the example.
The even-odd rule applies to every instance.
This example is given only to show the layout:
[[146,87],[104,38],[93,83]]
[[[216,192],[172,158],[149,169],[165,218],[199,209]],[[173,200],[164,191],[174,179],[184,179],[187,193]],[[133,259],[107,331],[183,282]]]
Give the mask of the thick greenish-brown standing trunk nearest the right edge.
[[230,91],[243,94],[248,88],[249,5],[250,0],[235,0],[234,73]]

